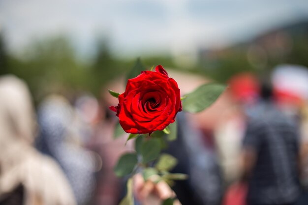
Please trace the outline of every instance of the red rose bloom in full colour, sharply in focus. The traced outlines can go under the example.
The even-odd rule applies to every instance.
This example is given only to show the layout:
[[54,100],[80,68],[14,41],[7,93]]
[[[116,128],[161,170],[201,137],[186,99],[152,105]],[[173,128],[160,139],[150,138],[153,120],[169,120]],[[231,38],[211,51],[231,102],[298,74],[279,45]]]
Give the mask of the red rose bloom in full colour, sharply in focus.
[[129,79],[125,92],[119,95],[118,106],[110,107],[117,112],[127,133],[163,130],[182,111],[177,82],[168,77],[161,65],[156,66],[155,71],[142,71],[136,78]]

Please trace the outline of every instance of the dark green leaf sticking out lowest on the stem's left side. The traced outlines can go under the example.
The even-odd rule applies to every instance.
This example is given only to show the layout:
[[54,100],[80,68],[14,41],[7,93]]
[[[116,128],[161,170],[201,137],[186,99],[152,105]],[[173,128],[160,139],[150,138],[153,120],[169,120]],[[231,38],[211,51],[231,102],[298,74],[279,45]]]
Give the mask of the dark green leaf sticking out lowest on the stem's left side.
[[121,177],[132,173],[137,162],[138,160],[136,153],[123,154],[114,168],[116,176]]

